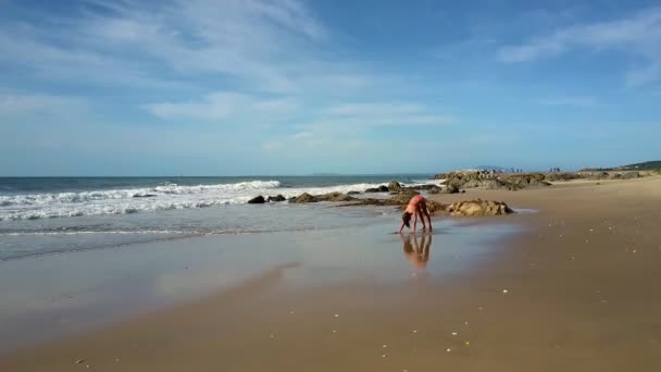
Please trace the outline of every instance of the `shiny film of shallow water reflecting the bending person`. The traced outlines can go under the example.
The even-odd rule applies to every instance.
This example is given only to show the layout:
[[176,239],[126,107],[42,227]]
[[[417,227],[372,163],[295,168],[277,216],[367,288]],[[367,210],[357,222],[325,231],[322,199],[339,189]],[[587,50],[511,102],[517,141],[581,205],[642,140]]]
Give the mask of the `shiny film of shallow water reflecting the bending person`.
[[[360,220],[360,219],[359,219]],[[448,280],[494,253],[515,225],[435,222],[392,234],[389,215],[335,230],[199,236],[0,262],[0,350],[119,321],[229,288],[287,265],[296,289],[341,282]],[[358,220],[357,220],[358,221]]]

